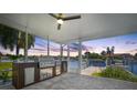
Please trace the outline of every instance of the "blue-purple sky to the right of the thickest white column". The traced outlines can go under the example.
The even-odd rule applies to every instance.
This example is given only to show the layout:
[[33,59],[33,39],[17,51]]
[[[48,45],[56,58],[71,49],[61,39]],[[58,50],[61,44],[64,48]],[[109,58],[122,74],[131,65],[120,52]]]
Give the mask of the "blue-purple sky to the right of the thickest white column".
[[107,47],[115,47],[115,53],[137,53],[137,33],[113,37],[107,39],[91,40],[84,45],[92,45],[93,52],[101,53]]

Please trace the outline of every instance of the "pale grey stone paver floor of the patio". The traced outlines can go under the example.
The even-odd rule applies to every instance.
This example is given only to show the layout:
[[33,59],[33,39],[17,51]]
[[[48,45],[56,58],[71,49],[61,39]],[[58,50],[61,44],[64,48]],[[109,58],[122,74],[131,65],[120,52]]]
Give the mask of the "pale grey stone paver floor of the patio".
[[137,83],[93,78],[75,73],[64,73],[60,76],[30,85],[24,90],[136,90]]

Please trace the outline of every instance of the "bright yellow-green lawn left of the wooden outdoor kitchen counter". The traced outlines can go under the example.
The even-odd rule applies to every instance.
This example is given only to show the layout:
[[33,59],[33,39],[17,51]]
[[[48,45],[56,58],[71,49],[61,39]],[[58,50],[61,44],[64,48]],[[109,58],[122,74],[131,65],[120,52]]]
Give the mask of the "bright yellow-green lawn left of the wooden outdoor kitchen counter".
[[[12,69],[12,63],[11,62],[0,62],[0,71],[4,69]],[[9,78],[12,76],[12,71],[9,72],[8,74]]]

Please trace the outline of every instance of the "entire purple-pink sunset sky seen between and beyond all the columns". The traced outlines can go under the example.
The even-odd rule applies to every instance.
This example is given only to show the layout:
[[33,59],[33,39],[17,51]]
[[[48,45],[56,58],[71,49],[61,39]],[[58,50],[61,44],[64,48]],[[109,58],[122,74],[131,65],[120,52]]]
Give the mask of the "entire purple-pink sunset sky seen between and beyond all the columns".
[[[48,44],[46,40],[35,37],[34,48],[31,48],[29,50],[29,55],[46,55],[48,54],[46,44]],[[106,50],[107,47],[115,47],[115,53],[135,54],[137,53],[137,33],[85,41],[82,43],[82,45],[83,45],[83,54],[86,51],[101,53],[103,50]],[[50,41],[50,54],[60,55],[60,47],[61,47],[60,44]],[[71,47],[71,56],[77,55],[78,54],[77,44],[72,43],[70,47]],[[67,48],[64,47],[64,53],[63,53],[64,55],[67,54],[66,50]],[[7,53],[15,54],[15,49],[14,51],[11,52],[10,50],[4,50],[0,47],[0,51],[4,54]],[[23,50],[21,50],[20,53],[23,54]]]

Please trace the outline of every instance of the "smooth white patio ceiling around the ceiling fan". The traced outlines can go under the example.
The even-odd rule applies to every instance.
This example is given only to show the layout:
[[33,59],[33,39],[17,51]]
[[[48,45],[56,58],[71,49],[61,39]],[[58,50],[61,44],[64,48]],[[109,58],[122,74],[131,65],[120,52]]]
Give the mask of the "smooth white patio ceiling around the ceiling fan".
[[[73,14],[65,14],[73,16]],[[137,14],[131,13],[82,13],[77,20],[65,21],[61,30],[48,13],[1,13],[0,23],[28,31],[57,43],[74,42],[122,35],[137,32]]]

